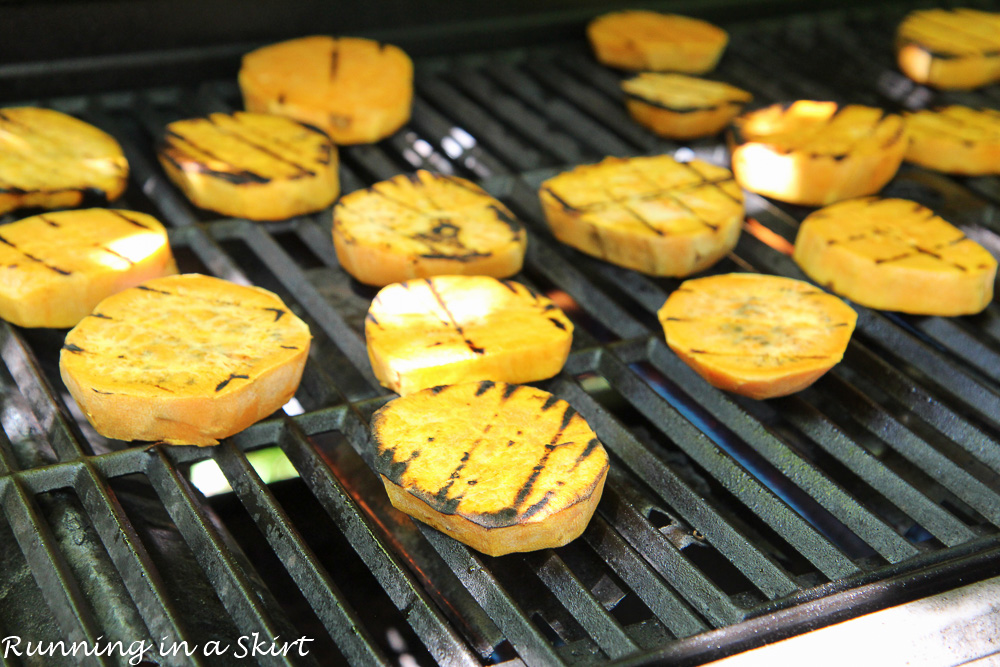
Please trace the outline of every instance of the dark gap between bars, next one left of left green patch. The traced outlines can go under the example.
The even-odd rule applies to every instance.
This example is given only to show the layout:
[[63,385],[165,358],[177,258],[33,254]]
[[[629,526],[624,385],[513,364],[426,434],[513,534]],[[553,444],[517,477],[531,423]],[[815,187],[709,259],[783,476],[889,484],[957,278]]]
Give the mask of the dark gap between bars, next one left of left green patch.
[[[166,589],[188,641],[204,646],[221,641],[235,646],[241,633],[233,625],[191,547],[141,474],[110,479],[109,488],[135,530]],[[157,642],[159,637],[154,638]]]

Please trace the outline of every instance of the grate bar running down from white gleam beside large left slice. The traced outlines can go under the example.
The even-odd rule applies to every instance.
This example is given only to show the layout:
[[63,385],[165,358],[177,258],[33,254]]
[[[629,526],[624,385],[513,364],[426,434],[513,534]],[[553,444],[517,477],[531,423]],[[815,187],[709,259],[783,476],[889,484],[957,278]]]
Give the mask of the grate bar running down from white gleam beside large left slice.
[[[347,434],[351,429],[344,431]],[[371,567],[372,575],[392,603],[406,614],[410,626],[428,649],[437,652],[435,657],[451,664],[476,664],[464,642],[378,539],[343,484],[310,445],[305,432],[295,422],[288,421],[278,444],[355,552]]]

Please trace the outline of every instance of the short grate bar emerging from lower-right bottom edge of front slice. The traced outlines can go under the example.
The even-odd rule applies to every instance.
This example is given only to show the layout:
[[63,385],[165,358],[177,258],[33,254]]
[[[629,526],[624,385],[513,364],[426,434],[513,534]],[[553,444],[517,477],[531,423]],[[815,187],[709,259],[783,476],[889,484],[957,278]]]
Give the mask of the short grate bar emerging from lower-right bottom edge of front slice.
[[608,657],[621,658],[639,650],[625,629],[566,567],[555,551],[538,552],[526,558],[542,583],[548,586]]

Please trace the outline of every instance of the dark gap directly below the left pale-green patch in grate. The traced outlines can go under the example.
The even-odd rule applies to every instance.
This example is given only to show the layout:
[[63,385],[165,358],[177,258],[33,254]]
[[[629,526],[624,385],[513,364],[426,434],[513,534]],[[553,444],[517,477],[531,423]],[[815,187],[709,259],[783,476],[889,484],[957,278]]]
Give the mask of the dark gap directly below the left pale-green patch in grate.
[[[275,495],[278,503],[287,509],[289,505],[297,508],[302,502],[302,497],[308,495],[308,491],[302,487],[303,484],[299,480],[286,480],[271,484],[268,488]],[[307,645],[309,653],[324,656],[324,661],[343,661],[344,657],[330,639],[323,624],[316,617],[294,580],[289,576],[285,564],[268,548],[265,536],[261,534],[253,519],[247,514],[234,494],[225,493],[213,496],[208,499],[208,503],[243,549],[247,558],[250,559],[254,569],[260,573],[265,585],[270,589],[295,630],[300,633],[298,636],[314,640]]]

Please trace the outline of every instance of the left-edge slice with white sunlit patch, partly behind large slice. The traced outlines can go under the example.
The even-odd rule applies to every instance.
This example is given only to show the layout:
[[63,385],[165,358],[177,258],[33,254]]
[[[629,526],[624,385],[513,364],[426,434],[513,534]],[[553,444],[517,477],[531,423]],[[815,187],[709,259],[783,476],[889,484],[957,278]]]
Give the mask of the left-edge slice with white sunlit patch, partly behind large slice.
[[68,328],[115,292],[177,273],[167,231],[145,213],[93,208],[0,228],[0,317]]

